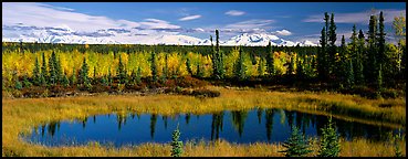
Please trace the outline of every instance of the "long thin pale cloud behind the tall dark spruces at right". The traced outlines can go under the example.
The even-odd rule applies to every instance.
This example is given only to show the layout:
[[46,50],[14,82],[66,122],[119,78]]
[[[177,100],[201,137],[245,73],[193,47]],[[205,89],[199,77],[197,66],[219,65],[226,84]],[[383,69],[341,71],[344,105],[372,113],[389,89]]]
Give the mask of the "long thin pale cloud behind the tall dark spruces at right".
[[[406,10],[376,10],[373,11],[364,11],[364,12],[355,12],[355,13],[334,13],[334,22],[336,23],[368,23],[369,17],[372,14],[379,15],[379,12],[383,11],[384,13],[384,22],[389,23],[393,22],[394,17],[398,17],[402,14],[406,17]],[[329,13],[331,14],[331,13]],[[304,19],[303,22],[324,22],[324,14],[315,14],[310,15],[308,18]]]

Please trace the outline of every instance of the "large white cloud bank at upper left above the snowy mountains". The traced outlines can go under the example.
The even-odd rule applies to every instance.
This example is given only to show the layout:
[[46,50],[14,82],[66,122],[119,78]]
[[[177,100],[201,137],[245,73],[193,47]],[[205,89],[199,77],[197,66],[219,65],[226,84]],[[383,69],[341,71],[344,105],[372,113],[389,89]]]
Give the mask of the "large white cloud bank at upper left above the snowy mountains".
[[106,17],[74,12],[73,9],[42,3],[2,2],[2,25],[63,26],[79,32],[106,29],[179,29],[164,20],[145,19],[143,22],[114,20]]

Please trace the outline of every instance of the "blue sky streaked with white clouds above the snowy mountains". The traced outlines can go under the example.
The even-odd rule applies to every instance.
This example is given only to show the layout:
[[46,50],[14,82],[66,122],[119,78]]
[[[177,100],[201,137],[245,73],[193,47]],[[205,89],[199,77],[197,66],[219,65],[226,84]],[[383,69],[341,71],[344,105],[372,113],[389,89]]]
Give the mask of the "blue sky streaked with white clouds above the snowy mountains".
[[367,30],[369,14],[379,11],[384,11],[386,31],[391,33],[393,18],[406,12],[404,2],[3,2],[2,8],[3,31],[4,25],[15,24],[67,25],[83,32],[136,28],[146,33],[208,39],[215,29],[220,29],[221,40],[248,32],[314,42],[318,40],[324,12],[335,14],[337,34],[346,38],[354,23]]

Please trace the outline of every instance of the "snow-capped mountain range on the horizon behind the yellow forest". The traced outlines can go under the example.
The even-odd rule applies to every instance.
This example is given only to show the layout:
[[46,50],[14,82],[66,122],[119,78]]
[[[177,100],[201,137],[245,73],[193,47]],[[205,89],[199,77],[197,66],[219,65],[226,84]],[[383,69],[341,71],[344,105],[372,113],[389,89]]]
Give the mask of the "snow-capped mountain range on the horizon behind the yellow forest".
[[[77,44],[176,44],[176,45],[211,45],[209,39],[198,39],[181,34],[154,34],[135,30],[107,29],[95,32],[76,32],[67,26],[36,28],[36,26],[2,26],[11,30],[11,34],[3,34],[3,42],[39,42],[39,43],[77,43]],[[265,46],[272,45],[316,45],[311,41],[292,42],[266,33],[242,33],[220,45]],[[215,44],[215,41],[213,41]]]

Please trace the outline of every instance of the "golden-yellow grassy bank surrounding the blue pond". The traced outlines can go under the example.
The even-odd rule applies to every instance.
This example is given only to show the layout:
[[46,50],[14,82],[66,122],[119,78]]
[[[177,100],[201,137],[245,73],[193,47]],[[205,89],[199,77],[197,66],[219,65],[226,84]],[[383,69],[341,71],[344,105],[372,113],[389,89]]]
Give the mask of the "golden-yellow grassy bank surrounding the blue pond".
[[[218,89],[220,97],[197,98],[180,95],[135,96],[132,94],[111,96],[79,96],[61,98],[2,99],[2,156],[169,156],[168,145],[145,144],[132,148],[105,148],[100,146],[46,148],[30,145],[18,138],[28,134],[34,125],[61,119],[81,119],[112,112],[153,113],[174,115],[178,113],[207,114],[224,109],[249,109],[254,107],[284,108],[314,114],[335,114],[334,117],[363,123],[375,123],[391,127],[405,127],[406,99],[366,99],[359,96],[329,93],[281,93],[262,89]],[[362,147],[366,150],[355,150]],[[405,144],[401,142],[405,155]],[[233,145],[226,141],[217,145],[187,144],[186,156],[282,156],[281,145]],[[374,151],[376,150],[376,151]],[[388,144],[365,139],[344,141],[341,156],[393,156]]]

